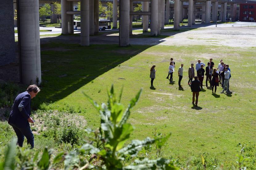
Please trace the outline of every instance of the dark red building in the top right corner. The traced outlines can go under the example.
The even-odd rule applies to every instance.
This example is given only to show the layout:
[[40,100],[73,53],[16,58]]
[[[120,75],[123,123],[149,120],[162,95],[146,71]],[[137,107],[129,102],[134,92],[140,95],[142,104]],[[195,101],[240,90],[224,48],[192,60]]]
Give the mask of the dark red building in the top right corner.
[[256,4],[240,4],[239,21],[255,22]]

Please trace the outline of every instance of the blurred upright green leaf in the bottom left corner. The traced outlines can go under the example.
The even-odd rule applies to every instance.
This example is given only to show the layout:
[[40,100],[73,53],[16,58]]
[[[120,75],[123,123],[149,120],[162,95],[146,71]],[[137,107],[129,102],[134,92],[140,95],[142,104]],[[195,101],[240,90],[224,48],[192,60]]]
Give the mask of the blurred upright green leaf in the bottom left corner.
[[15,155],[16,155],[16,142],[17,139],[13,138],[8,144],[7,151],[5,153],[5,159],[1,170],[14,170],[15,169]]

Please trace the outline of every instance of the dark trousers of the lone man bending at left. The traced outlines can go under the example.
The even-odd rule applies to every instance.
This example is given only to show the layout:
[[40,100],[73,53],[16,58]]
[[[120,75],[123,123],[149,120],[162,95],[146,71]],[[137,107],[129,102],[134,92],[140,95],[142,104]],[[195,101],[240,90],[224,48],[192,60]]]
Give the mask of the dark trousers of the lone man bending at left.
[[23,146],[24,136],[27,138],[27,144],[30,144],[31,148],[34,148],[34,135],[31,131],[30,125],[28,124],[25,128],[18,128],[14,124],[10,124],[12,128],[14,129],[14,132],[16,133],[18,137],[18,144],[20,147]]

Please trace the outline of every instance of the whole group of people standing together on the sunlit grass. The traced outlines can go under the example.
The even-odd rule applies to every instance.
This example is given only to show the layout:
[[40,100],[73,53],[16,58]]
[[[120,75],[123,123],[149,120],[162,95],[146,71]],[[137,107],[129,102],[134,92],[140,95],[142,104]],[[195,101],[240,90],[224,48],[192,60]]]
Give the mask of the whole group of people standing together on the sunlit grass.
[[[201,89],[203,89],[203,81],[204,76],[206,76],[205,79],[205,85],[208,87],[208,82],[210,87],[212,88],[212,93],[214,89],[214,93],[216,93],[217,86],[221,84],[221,87],[223,90],[220,93],[224,93],[226,91],[227,94],[231,93],[229,91],[229,79],[231,78],[230,69],[228,64],[224,64],[222,60],[220,60],[220,63],[218,64],[217,69],[214,68],[214,62],[213,59],[210,58],[210,61],[207,63],[206,68],[204,69],[205,64],[201,62],[201,60],[198,60],[196,63],[196,76],[195,76],[195,69],[194,64],[191,64],[191,66],[188,68],[188,85],[191,88],[191,91],[193,92],[193,98],[192,98],[192,104],[197,106],[198,103],[198,96]],[[168,80],[170,80],[170,83],[173,83],[173,72],[175,69],[175,62],[173,61],[173,58],[171,58],[171,62],[169,65],[169,71],[168,76],[166,77]],[[150,78],[151,78],[151,87],[153,86],[153,81],[155,79],[155,65],[153,65],[150,69]],[[170,76],[170,79],[169,79]],[[179,76],[179,88],[182,88],[181,80],[183,77],[183,64],[181,64],[180,68],[178,69],[178,76]],[[194,78],[194,81],[193,81]],[[196,97],[196,103],[195,103],[195,97]]]

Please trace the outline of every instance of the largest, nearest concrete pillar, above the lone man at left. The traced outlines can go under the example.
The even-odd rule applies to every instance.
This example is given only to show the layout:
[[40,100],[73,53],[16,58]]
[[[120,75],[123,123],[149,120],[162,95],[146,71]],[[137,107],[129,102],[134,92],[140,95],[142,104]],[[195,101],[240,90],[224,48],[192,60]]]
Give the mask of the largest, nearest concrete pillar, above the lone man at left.
[[38,7],[38,0],[19,0],[19,36],[23,84],[41,83]]

